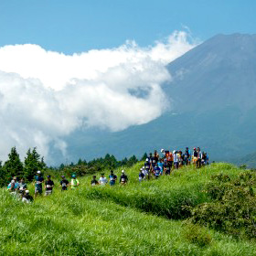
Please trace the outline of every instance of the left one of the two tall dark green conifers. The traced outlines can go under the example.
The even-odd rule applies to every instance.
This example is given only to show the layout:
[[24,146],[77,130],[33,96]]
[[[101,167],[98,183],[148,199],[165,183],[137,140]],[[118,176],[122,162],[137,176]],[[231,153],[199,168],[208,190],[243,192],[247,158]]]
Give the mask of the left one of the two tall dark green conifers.
[[11,179],[12,176],[21,177],[24,175],[24,167],[16,152],[16,147],[12,147],[11,153],[8,155],[8,160],[4,165],[5,178]]

